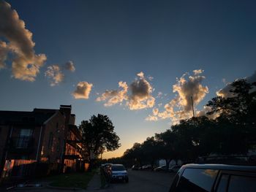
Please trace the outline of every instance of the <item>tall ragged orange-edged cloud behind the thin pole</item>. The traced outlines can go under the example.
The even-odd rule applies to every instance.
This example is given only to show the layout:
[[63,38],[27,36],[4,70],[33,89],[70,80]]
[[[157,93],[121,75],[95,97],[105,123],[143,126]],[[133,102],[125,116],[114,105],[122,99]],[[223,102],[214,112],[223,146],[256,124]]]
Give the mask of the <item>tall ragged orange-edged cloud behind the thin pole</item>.
[[[170,118],[173,123],[178,123],[181,119],[192,117],[192,100],[195,107],[200,103],[208,93],[208,87],[203,86],[205,79],[200,73],[203,70],[194,70],[194,75],[187,77],[187,73],[183,74],[173,85],[173,93],[177,93],[176,97],[165,104],[164,110],[153,110],[153,116],[158,119]],[[151,115],[152,116],[152,115]],[[150,116],[148,116],[150,117]],[[151,118],[148,118],[151,119]]]

